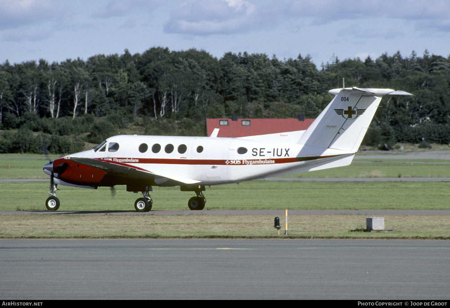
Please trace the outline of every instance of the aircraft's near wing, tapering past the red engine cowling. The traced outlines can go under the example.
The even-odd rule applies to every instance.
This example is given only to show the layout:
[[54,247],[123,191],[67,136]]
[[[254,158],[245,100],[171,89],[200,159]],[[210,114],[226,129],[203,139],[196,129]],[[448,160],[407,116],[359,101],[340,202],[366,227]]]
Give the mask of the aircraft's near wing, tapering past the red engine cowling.
[[[79,164],[83,164],[86,166],[90,166],[96,169],[100,169],[103,171],[108,172],[108,174],[115,174],[119,175],[125,178],[132,178],[132,179],[171,179],[175,180],[177,182],[183,183],[183,184],[195,184],[200,183],[200,181],[193,180],[193,179],[187,179],[180,176],[173,176],[169,174],[155,174],[151,171],[133,166],[128,165],[126,163],[117,162],[117,161],[105,161],[105,160],[99,160],[99,159],[93,159],[93,158],[87,158],[87,157],[72,157],[72,156],[66,156],[64,157],[68,161],[74,161]],[[155,181],[157,182],[157,181]]]

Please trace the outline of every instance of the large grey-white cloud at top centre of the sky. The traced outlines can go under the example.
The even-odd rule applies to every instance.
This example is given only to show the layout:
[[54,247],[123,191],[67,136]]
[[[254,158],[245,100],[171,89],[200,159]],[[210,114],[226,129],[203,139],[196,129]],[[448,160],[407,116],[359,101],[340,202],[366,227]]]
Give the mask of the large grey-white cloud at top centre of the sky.
[[275,23],[275,15],[245,0],[189,0],[172,10],[164,31],[193,35],[247,32]]

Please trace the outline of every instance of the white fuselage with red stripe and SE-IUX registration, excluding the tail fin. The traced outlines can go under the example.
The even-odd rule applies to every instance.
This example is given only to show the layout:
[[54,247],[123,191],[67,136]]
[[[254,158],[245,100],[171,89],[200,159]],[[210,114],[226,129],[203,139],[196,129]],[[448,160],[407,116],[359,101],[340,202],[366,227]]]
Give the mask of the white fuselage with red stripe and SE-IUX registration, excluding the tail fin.
[[[336,149],[244,138],[121,135],[108,138],[92,150],[55,160],[53,170],[61,184],[97,187],[145,182],[150,186],[204,186],[323,169],[328,168],[324,166],[327,164],[334,167],[335,162],[342,160],[348,165],[353,155],[354,152]],[[136,179],[126,174],[111,175],[71,161],[72,157],[129,166],[148,176]],[[48,168],[46,173],[50,173]]]

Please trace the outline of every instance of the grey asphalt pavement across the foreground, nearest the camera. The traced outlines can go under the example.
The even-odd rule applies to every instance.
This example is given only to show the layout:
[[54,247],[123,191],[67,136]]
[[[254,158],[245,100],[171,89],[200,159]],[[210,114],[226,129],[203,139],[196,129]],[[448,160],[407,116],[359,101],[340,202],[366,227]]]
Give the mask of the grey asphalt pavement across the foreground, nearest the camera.
[[450,299],[450,241],[1,240],[7,299]]

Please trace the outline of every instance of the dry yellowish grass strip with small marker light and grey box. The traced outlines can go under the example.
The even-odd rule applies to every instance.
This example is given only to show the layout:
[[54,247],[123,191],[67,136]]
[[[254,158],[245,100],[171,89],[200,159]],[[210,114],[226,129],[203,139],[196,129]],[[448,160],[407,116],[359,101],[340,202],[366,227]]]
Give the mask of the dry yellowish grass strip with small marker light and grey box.
[[393,231],[384,232],[362,232],[360,215],[289,215],[287,236],[284,223],[275,230],[273,215],[11,214],[0,223],[0,238],[450,239],[448,215],[386,215]]

